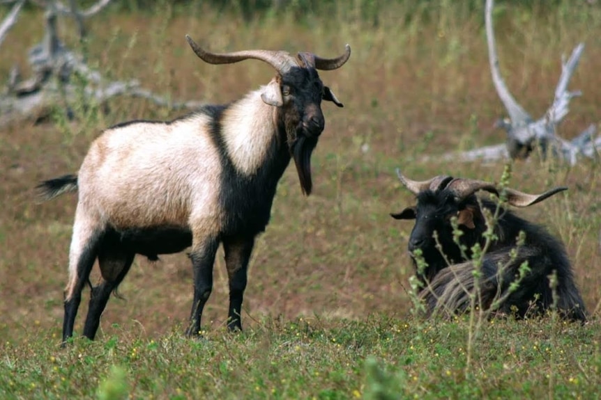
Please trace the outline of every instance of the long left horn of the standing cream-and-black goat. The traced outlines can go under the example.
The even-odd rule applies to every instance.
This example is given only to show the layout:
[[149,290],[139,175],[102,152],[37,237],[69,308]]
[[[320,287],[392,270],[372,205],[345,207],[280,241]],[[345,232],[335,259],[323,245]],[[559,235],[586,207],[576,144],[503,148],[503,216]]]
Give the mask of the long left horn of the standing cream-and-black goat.
[[294,58],[287,53],[287,51],[271,51],[271,50],[243,50],[243,51],[232,51],[230,53],[211,53],[206,51],[202,47],[196,44],[190,36],[185,35],[185,40],[188,40],[188,44],[192,47],[192,50],[196,55],[204,62],[209,64],[231,64],[238,63],[238,61],[248,60],[248,58],[254,58],[255,60],[261,60],[284,74],[290,70],[290,68],[296,65]]

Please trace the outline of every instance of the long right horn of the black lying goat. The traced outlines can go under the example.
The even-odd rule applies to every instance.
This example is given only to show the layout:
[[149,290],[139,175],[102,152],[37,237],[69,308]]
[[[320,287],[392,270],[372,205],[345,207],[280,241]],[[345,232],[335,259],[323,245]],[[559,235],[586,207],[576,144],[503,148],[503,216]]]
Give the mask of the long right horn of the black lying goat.
[[[473,179],[453,179],[447,185],[446,189],[449,189],[450,191],[455,193],[457,201],[464,200],[469,195],[472,195],[473,193],[476,193],[479,190],[499,195],[499,189],[497,189],[495,184]],[[568,188],[565,186],[561,186],[546,191],[542,194],[531,195],[528,193],[517,191],[515,189],[506,188],[505,193],[507,194],[507,202],[509,203],[509,205],[512,205],[514,207],[528,207],[530,205],[534,205],[538,202],[541,202],[542,200],[545,200],[556,193],[565,190],[568,190]]]

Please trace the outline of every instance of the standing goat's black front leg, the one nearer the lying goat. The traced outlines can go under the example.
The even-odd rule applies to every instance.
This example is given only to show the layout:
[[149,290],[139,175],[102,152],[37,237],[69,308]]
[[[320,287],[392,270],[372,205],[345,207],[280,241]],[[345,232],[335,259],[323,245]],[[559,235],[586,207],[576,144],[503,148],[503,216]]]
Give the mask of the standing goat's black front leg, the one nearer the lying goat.
[[242,330],[241,311],[246,289],[248,262],[254,246],[254,237],[224,239],[225,264],[229,278],[229,314],[227,328]]

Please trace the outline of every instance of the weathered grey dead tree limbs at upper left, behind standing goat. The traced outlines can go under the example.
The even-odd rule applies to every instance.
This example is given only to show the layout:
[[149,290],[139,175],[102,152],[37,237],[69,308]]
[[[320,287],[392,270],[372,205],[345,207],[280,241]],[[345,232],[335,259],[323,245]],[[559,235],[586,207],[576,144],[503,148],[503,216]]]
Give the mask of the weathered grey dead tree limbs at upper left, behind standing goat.
[[[16,1],[13,10],[1,24],[0,43],[17,21],[24,1]],[[81,55],[70,51],[61,42],[57,29],[59,15],[75,18],[79,37],[83,39],[86,34],[84,19],[98,14],[110,0],[99,0],[83,11],[77,9],[75,0],[69,0],[69,6],[56,0],[30,1],[45,9],[45,34],[42,42],[29,50],[32,77],[21,81],[17,67],[10,72],[6,90],[0,93],[0,127],[24,120],[39,120],[50,113],[56,104],[66,104],[68,110],[68,104],[82,100],[82,93],[84,101],[90,104],[101,104],[111,97],[129,95],[170,109],[193,109],[200,105],[199,102],[172,102],[168,97],[141,88],[137,81],[107,81],[100,72],[91,70]],[[73,79],[75,75],[79,77],[76,80],[78,82]]]

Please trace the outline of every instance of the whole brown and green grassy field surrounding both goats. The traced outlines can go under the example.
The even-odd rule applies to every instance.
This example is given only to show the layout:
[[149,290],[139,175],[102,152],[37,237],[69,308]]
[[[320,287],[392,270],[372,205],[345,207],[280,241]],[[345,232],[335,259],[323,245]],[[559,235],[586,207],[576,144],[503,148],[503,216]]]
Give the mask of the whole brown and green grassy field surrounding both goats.
[[[367,2],[365,2],[367,3]],[[395,177],[448,174],[498,181],[503,163],[436,161],[436,156],[501,143],[492,127],[504,115],[487,63],[483,14],[462,2],[412,1],[373,9],[362,1],[328,13],[238,13],[201,5],[156,12],[107,10],[89,23],[91,66],[113,79],[139,79],[173,99],[228,102],[267,83],[264,63],[214,66],[199,61],[189,33],[215,51],[264,47],[336,56],[321,72],[344,109],[324,104],[326,130],[313,157],[314,190],[300,193],[284,174],[271,224],[257,241],[243,305],[245,333],[225,332],[227,273],[222,250],[204,313],[205,339],[183,338],[192,301],[185,255],[137,258],[112,298],[98,340],[59,349],[62,290],[76,197],[38,205],[33,186],[77,171],[102,127],[136,118],[172,118],[137,99],[114,99],[105,113],[77,107],[79,122],[53,118],[0,131],[0,397],[3,399],[394,399],[599,397],[601,171],[533,157],[512,166],[511,186],[565,194],[520,210],[561,237],[591,321],[423,321],[411,313],[406,254],[411,223],[388,213],[413,202]],[[424,2],[422,2],[424,3]],[[411,6],[411,7],[410,7]],[[2,8],[6,13],[6,7]],[[0,18],[1,18],[0,14]],[[377,16],[377,18],[374,17]],[[0,79],[43,34],[28,11],[0,47]],[[75,29],[61,25],[77,48]],[[570,83],[560,134],[572,138],[600,122],[601,8],[585,1],[496,13],[501,70],[535,118],[552,101],[561,54],[586,49]],[[434,156],[423,161],[424,156]],[[86,291],[85,296],[89,293]],[[82,301],[76,330],[86,312]],[[476,333],[476,335],[473,335]]]

